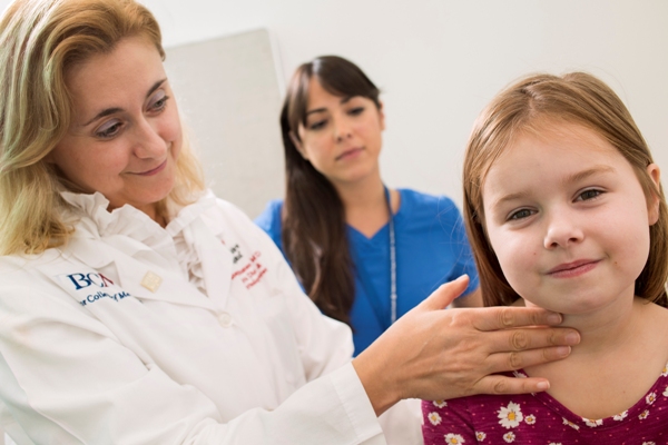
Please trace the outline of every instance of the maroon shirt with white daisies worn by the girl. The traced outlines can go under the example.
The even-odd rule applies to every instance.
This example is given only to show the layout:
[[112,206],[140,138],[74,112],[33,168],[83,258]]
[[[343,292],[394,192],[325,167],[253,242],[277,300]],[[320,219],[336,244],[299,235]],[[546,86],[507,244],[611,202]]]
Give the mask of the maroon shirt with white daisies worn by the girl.
[[425,400],[422,413],[425,445],[667,445],[668,365],[638,403],[601,419],[580,417],[547,393]]

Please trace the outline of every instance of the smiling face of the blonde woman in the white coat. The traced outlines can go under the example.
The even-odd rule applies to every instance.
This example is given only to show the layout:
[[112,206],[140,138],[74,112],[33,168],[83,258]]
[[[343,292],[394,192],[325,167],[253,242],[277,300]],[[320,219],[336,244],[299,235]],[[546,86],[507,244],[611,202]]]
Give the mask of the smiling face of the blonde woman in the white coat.
[[118,42],[66,73],[73,101],[67,135],[47,157],[109,209],[129,204],[156,219],[175,181],[183,135],[160,55],[140,37]]

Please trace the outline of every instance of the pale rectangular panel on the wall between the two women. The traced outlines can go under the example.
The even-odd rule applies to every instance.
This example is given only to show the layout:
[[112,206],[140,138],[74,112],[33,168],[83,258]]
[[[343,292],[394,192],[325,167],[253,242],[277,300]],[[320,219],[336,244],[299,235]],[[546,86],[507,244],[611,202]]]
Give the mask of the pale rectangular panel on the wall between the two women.
[[276,118],[283,88],[268,32],[240,32],[166,52],[167,76],[208,187],[247,215],[259,215],[285,181]]

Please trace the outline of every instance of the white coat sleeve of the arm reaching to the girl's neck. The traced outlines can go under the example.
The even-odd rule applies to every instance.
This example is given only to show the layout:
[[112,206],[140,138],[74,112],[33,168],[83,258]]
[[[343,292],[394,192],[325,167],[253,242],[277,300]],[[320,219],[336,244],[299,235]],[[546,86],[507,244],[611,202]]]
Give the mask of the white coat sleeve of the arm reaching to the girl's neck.
[[[385,443],[351,365],[311,382],[274,411],[252,409],[223,423],[205,394],[144,364],[76,301],[24,286],[1,290],[0,380],[0,399],[16,421],[8,433],[17,441]],[[248,383],[220,382],[238,384]]]

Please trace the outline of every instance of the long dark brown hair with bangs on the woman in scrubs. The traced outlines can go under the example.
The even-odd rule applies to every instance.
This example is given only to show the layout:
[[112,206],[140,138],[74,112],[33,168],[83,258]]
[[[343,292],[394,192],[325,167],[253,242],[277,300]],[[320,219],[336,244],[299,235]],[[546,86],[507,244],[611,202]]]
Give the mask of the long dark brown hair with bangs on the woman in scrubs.
[[345,209],[332,184],[302,157],[292,139],[298,140],[299,126],[306,125],[308,87],[314,77],[332,95],[362,96],[379,108],[380,90],[351,61],[323,56],[297,68],[281,111],[286,174],[282,233],[285,255],[317,307],[350,325],[355,280]]

